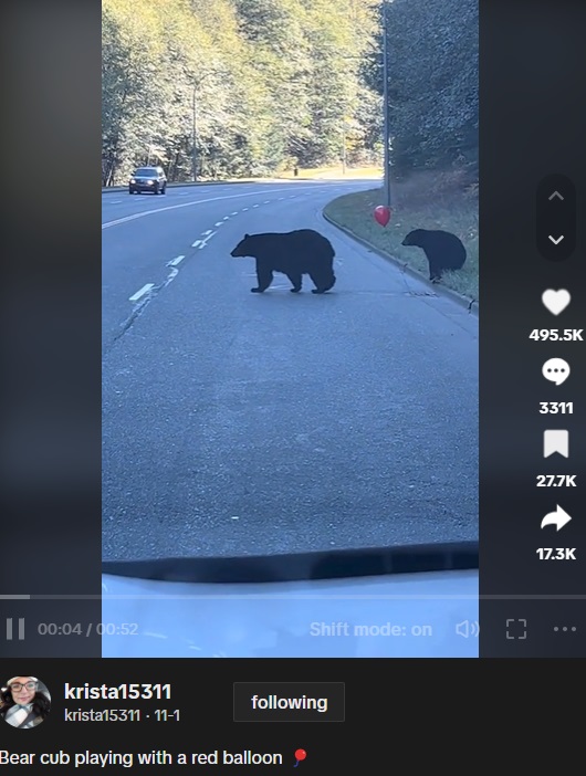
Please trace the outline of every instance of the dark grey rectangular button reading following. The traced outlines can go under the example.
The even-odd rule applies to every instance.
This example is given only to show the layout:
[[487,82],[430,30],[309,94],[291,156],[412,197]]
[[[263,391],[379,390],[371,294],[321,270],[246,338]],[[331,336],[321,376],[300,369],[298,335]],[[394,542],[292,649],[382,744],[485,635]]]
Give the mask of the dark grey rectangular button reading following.
[[234,722],[344,722],[344,682],[234,682]]

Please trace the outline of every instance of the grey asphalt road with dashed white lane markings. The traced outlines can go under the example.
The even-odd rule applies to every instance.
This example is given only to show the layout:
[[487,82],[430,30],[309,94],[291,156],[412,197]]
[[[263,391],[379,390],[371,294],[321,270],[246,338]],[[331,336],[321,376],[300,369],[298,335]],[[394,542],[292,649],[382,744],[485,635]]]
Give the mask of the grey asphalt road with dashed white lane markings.
[[[104,559],[478,538],[478,318],[322,218],[375,186],[103,196]],[[251,294],[305,227],[334,290]]]

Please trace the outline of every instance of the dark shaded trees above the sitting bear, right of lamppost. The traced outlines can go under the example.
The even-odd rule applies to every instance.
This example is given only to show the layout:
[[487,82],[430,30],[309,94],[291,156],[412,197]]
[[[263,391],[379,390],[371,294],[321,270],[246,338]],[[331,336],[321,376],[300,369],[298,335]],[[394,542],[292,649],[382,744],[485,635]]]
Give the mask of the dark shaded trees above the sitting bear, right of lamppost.
[[388,6],[389,124],[396,171],[478,175],[478,0]]

